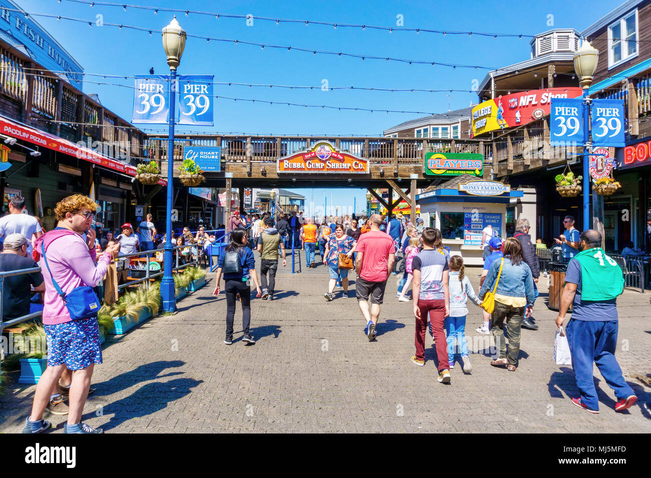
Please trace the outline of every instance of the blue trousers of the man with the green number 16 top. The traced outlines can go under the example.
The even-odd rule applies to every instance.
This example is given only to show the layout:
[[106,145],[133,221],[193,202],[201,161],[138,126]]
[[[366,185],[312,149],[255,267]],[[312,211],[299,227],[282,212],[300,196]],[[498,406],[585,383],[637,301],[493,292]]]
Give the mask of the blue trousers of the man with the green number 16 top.
[[635,395],[622,377],[622,369],[615,358],[618,321],[578,321],[570,319],[566,332],[576,386],[581,401],[590,410],[599,410],[597,391],[592,377],[592,362],[615,392],[618,399]]

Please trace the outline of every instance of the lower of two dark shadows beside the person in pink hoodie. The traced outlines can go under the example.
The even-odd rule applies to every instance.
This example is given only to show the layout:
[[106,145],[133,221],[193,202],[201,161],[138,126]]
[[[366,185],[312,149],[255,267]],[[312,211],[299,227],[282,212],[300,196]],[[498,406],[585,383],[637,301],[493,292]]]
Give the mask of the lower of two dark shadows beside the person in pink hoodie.
[[[192,388],[201,384],[203,380],[194,378],[174,378],[169,382],[154,382],[143,385],[132,395],[110,403],[102,409],[103,414],[115,414],[115,416],[101,428],[109,431],[119,427],[125,421],[132,418],[142,418],[166,408],[170,402],[185,397],[192,392]],[[84,418],[92,418],[96,412],[85,414]]]

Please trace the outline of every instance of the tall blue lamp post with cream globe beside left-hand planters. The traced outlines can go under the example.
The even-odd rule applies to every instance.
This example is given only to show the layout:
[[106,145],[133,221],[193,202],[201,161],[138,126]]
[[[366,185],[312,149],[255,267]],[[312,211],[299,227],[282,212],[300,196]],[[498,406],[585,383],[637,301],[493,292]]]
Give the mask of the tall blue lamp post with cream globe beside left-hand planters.
[[176,310],[174,278],[172,277],[172,193],[174,189],[174,100],[176,98],[176,68],[181,62],[186,47],[186,31],[176,21],[176,16],[163,28],[163,48],[169,65],[169,137],[167,141],[167,224],[165,228],[165,261],[163,261],[163,279],[161,280],[161,298],[163,310]]

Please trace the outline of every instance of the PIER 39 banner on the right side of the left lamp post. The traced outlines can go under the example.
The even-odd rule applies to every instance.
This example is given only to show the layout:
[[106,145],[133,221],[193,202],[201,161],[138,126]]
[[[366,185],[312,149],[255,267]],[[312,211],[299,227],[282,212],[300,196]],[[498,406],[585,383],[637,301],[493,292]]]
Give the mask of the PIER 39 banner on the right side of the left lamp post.
[[179,75],[178,124],[213,126],[213,75]]

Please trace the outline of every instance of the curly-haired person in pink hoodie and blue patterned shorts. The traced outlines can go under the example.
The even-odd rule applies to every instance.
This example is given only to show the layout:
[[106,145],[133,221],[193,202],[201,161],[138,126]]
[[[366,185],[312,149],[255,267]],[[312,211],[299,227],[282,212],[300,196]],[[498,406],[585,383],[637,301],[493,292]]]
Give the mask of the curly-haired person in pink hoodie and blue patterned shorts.
[[[57,227],[38,237],[34,243],[35,259],[45,282],[43,325],[48,338],[48,368],[38,380],[32,412],[25,421],[23,433],[48,429],[50,423],[42,419],[43,412],[66,368],[75,373],[70,384],[70,410],[64,431],[102,432],[81,423],[94,364],[102,363],[97,317],[72,320],[52,282],[54,277],[63,293],[68,294],[80,285],[94,287],[104,278],[120,245],[107,246],[96,261],[95,231],[90,228],[96,209],[97,205],[88,196],[74,194],[64,198],[55,209]],[[82,233],[87,234],[86,241],[82,239]],[[47,265],[42,257],[43,251],[48,259]]]

